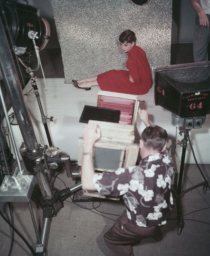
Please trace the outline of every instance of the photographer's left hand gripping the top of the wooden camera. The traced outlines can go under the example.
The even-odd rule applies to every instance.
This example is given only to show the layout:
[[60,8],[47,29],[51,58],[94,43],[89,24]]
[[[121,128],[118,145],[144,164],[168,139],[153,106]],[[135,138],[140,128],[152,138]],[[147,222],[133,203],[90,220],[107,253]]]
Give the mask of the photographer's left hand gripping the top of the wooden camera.
[[95,123],[85,125],[83,129],[85,147],[93,147],[95,141],[100,138],[100,129]]

